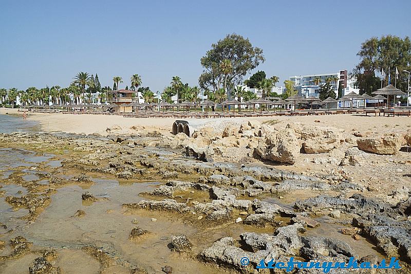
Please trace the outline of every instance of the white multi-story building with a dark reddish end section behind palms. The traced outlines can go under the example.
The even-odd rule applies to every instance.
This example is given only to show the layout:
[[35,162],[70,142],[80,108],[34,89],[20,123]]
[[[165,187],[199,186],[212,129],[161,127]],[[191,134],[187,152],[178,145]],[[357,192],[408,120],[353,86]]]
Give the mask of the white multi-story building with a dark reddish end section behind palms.
[[297,90],[299,95],[319,97],[320,86],[327,81],[334,87],[335,95],[338,96],[338,89],[347,87],[347,78],[348,71],[340,70],[327,74],[295,75],[290,77],[290,81],[293,82],[293,90]]

